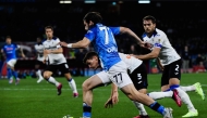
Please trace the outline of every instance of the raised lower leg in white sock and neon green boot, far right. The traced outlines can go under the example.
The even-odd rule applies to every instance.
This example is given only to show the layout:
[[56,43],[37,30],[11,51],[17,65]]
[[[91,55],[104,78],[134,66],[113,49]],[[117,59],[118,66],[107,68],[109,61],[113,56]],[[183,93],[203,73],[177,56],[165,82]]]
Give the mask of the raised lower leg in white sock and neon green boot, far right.
[[205,94],[202,89],[202,84],[199,82],[196,82],[196,83],[194,83],[192,86],[187,86],[187,87],[180,86],[180,88],[185,92],[195,91],[197,94],[199,94],[202,96],[202,100],[205,100]]

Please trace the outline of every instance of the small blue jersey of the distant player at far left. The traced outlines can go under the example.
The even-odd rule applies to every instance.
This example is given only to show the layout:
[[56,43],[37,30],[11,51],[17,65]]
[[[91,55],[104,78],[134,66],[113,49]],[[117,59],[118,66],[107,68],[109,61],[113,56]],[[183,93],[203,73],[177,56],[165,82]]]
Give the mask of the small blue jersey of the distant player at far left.
[[16,60],[16,49],[17,48],[19,47],[14,43],[3,45],[2,50],[5,53],[7,62],[9,62],[12,58]]

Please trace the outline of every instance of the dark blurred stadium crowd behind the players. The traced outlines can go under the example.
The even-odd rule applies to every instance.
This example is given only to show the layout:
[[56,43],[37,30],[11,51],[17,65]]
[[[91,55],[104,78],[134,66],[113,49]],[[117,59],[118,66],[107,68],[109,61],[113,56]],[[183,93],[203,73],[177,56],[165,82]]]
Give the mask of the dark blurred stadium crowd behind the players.
[[[157,18],[157,28],[163,30],[183,58],[183,73],[193,71],[197,66],[207,69],[207,13],[204,12],[206,1],[155,1],[138,4],[137,1],[106,1],[95,4],[73,2],[72,4],[51,3],[1,3],[0,4],[0,44],[5,36],[13,42],[24,45],[27,58],[35,58],[34,44],[37,37],[45,38],[45,26],[54,27],[54,36],[65,42],[75,42],[84,37],[83,17],[88,11],[102,14],[104,24],[131,28],[142,37],[142,18],[153,15]],[[126,36],[115,37],[119,51],[130,54],[147,53],[139,48],[134,39]],[[82,62],[88,49],[64,49],[69,60]],[[3,60],[1,57],[1,60]],[[157,67],[151,60],[147,63]],[[69,63],[70,65],[70,63]],[[185,70],[186,68],[186,70]],[[199,68],[196,69],[199,71]],[[151,71],[151,70],[149,70]],[[195,71],[195,70],[194,70]]]

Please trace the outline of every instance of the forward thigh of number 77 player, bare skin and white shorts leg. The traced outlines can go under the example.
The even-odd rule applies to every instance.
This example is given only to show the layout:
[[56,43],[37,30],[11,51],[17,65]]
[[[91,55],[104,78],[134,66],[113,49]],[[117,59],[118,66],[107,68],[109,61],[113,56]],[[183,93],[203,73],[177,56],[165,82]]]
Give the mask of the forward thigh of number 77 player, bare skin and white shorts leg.
[[90,89],[106,86],[111,81],[110,81],[107,73],[100,71],[100,73],[92,76],[90,78],[86,79],[83,82],[82,88],[83,88],[83,90],[90,90]]

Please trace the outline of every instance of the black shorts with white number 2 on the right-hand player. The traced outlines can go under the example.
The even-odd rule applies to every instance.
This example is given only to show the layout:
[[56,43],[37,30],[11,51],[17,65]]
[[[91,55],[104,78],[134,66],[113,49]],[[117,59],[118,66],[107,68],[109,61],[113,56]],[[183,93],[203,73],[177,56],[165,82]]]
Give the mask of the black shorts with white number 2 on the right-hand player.
[[161,76],[161,87],[169,84],[170,78],[178,78],[179,80],[181,79],[181,66],[182,66],[181,60],[163,66],[165,68]]

